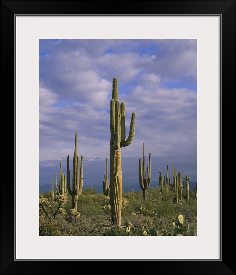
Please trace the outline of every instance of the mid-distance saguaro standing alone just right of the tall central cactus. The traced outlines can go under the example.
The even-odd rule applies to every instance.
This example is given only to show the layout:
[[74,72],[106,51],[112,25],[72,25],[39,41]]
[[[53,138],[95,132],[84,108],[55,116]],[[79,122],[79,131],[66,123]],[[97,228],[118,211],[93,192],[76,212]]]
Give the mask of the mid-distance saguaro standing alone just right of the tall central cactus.
[[143,142],[143,162],[139,159],[139,185],[143,190],[144,201],[147,200],[147,189],[151,183],[151,153],[149,153],[149,166],[147,167],[147,177],[145,171],[144,142]]

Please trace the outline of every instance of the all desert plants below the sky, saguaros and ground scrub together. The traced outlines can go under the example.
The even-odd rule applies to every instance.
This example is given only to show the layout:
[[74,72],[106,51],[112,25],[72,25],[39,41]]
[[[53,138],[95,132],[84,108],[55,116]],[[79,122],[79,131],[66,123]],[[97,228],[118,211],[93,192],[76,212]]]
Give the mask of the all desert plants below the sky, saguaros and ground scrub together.
[[[184,236],[197,234],[197,187],[189,190],[189,179],[176,173],[173,181],[159,172],[159,188],[151,188],[151,153],[147,175],[144,157],[139,159],[139,184],[142,191],[125,194],[122,187],[121,148],[132,143],[135,133],[135,113],[132,113],[128,138],[125,134],[125,106],[118,100],[118,80],[112,83],[110,102],[110,185],[108,159],[103,180],[103,192],[94,188],[83,190],[83,156],[79,167],[77,133],[73,157],[72,189],[67,156],[67,181],[60,163],[60,181],[52,190],[39,197],[40,235],[55,236]],[[186,184],[185,184],[186,182]],[[59,187],[59,190],[58,190]],[[67,188],[66,188],[67,187]],[[186,187],[186,192],[184,192]],[[149,190],[148,190],[149,189]],[[148,194],[148,196],[147,196]],[[78,196],[80,196],[78,198]],[[79,209],[80,212],[77,211]],[[121,215],[122,213],[122,215]]]

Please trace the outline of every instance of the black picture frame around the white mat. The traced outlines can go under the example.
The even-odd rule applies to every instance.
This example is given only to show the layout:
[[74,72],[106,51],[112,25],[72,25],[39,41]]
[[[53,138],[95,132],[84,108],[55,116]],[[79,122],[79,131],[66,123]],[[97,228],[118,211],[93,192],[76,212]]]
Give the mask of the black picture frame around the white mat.
[[[104,2],[105,3],[105,2]],[[135,5],[133,5],[135,3]],[[232,167],[232,148],[235,144],[235,3],[236,1],[109,1],[107,5],[100,1],[1,1],[1,91],[3,104],[14,106],[3,107],[3,112],[14,114],[14,141],[9,137],[9,125],[2,122],[3,157],[1,184],[1,274],[214,274],[227,275],[235,272],[235,177]],[[106,9],[101,10],[101,5]],[[105,12],[100,14],[101,12]],[[108,13],[109,11],[109,13]],[[99,13],[98,13],[99,12]],[[219,260],[15,260],[15,186],[16,186],[16,103],[15,103],[15,17],[16,15],[220,15],[221,17],[221,108],[220,108],[220,259]],[[4,92],[5,91],[5,92]],[[7,101],[5,99],[7,97]],[[13,104],[14,102],[14,104]],[[8,105],[8,104],[7,104]],[[227,122],[222,124],[222,118]],[[232,122],[233,131],[232,131]],[[209,128],[210,130],[210,128]],[[232,132],[234,134],[232,134]],[[206,133],[207,134],[207,133]],[[226,139],[227,134],[227,139]],[[222,136],[225,138],[222,139]],[[233,138],[233,140],[232,140]],[[222,143],[224,141],[224,144]],[[14,144],[14,158],[5,153],[6,147]],[[6,146],[6,144],[10,146]],[[223,145],[223,146],[222,146]],[[223,149],[223,151],[222,151]],[[234,151],[235,152],[235,151]],[[223,157],[227,170],[222,166]],[[226,160],[227,157],[227,160]],[[14,164],[13,164],[14,159]],[[235,158],[234,158],[235,159]],[[12,170],[14,166],[14,183]],[[224,165],[226,167],[226,165]],[[27,169],[27,164],[26,164]],[[216,168],[217,169],[217,168]],[[6,176],[7,175],[7,176]],[[232,180],[233,178],[233,180]],[[233,182],[231,182],[233,181]],[[209,182],[209,180],[208,180]],[[209,183],[214,185],[214,183]],[[14,201],[13,201],[14,198]],[[218,199],[218,198],[216,198]],[[27,230],[27,228],[26,228]],[[206,228],[206,230],[214,230]],[[27,241],[27,240],[26,240]],[[111,253],[109,243],[108,253]],[[79,248],[79,244],[78,244]],[[50,249],[48,246],[47,249]],[[158,249],[158,247],[156,248]],[[170,253],[187,251],[172,248]],[[204,247],[203,247],[204,250]],[[144,252],[144,251],[140,251]],[[132,248],[124,249],[132,253]],[[145,251],[148,253],[148,251]],[[127,258],[127,257],[124,257]],[[55,261],[50,263],[48,261]],[[62,262],[63,261],[63,262]],[[98,262],[100,261],[100,262]],[[105,262],[104,262],[105,261]],[[128,261],[128,262],[127,262]]]

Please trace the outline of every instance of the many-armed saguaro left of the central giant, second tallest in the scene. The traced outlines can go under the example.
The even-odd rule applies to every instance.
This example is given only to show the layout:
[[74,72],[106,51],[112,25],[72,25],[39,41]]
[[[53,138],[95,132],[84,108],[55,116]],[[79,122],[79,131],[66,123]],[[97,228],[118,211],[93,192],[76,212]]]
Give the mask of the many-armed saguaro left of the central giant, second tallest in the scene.
[[80,172],[79,157],[77,156],[77,133],[75,133],[75,151],[73,158],[73,174],[72,174],[72,190],[70,188],[70,164],[69,156],[67,156],[67,191],[72,196],[72,209],[77,211],[78,196],[81,195],[83,189],[83,156],[81,156]]

